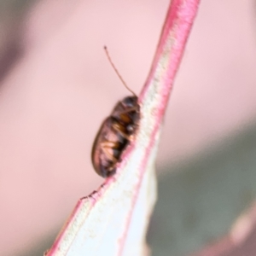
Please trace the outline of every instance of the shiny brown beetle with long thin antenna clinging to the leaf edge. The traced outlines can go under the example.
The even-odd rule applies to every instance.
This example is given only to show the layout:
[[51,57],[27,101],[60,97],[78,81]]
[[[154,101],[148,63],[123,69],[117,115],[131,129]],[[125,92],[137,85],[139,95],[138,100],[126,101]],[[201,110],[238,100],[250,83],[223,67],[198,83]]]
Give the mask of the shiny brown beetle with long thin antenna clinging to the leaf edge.
[[[105,47],[104,49],[106,50],[108,60],[113,66],[107,48]],[[123,84],[125,84],[114,66],[113,69]],[[126,84],[125,87],[130,90]],[[132,94],[134,96],[127,96],[116,104],[113,112],[103,121],[96,135],[91,152],[91,160],[96,173],[102,177],[110,177],[115,173],[122,153],[137,131],[140,119],[140,106],[137,102],[137,96],[134,92]]]

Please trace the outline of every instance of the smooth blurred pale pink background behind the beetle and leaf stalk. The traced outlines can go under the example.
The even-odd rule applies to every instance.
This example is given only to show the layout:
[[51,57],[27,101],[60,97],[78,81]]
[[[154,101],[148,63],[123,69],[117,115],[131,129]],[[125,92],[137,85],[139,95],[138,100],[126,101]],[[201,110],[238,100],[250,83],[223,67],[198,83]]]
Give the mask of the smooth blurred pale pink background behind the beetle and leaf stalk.
[[[0,51],[15,42],[19,58],[0,84],[1,255],[32,247],[102,183],[91,146],[102,119],[129,94],[103,45],[139,93],[168,4],[48,0],[16,22],[16,13],[2,15]],[[201,1],[166,112],[159,169],[255,120],[254,4]]]

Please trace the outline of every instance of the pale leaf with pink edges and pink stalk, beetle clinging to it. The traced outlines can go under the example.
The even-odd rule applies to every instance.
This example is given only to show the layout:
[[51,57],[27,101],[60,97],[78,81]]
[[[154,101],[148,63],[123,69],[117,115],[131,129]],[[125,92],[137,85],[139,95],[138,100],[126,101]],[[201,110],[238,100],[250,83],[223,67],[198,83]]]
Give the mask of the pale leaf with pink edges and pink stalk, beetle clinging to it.
[[148,255],[145,234],[156,200],[154,161],[160,127],[199,0],[173,0],[148,80],[139,96],[137,136],[117,173],[79,200],[47,253],[53,255]]

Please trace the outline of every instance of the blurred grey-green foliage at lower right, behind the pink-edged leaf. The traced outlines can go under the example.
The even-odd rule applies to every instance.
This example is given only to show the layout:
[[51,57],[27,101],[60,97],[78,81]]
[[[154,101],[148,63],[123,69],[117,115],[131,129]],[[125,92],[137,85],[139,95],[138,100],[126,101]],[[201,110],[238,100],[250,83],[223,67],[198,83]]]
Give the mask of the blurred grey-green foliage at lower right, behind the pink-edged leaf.
[[[254,123],[190,160],[166,167],[172,172],[160,177],[148,234],[153,256],[189,255],[218,241],[253,204],[255,131]],[[253,256],[255,249],[246,255]]]

